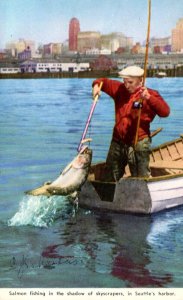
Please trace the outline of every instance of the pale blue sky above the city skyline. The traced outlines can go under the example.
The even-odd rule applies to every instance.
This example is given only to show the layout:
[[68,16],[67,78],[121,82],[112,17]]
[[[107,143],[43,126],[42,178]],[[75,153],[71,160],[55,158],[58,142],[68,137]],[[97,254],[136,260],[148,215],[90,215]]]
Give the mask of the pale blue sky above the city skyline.
[[[122,32],[146,39],[148,0],[0,0],[0,48],[20,38],[37,45],[68,39],[69,21],[81,31]],[[151,0],[151,37],[167,37],[183,18],[183,0]]]

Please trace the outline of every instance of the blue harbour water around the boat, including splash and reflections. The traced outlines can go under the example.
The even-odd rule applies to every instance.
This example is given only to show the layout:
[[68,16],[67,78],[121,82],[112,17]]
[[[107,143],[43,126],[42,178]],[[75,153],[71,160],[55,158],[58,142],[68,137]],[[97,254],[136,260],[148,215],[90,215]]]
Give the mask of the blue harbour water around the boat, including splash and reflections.
[[[182,287],[183,208],[153,216],[74,211],[66,197],[24,191],[55,179],[76,155],[92,79],[0,81],[0,286]],[[153,145],[183,132],[183,78],[147,79],[171,107]],[[103,160],[114,122],[104,93],[89,135]]]

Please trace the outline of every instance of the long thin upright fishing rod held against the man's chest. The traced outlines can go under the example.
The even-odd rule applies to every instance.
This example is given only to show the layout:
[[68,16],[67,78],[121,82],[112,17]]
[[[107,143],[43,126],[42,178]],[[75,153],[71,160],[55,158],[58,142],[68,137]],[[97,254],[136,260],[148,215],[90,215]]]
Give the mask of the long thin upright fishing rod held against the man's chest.
[[[148,0],[148,25],[147,25],[147,36],[146,36],[146,51],[145,51],[145,60],[144,60],[144,75],[142,86],[145,85],[146,74],[147,74],[147,63],[148,63],[148,52],[149,52],[149,37],[150,37],[150,23],[151,23],[151,0]],[[140,99],[140,103],[142,103],[142,99]],[[140,127],[140,117],[141,117],[142,105],[140,105],[138,110],[138,118],[137,118],[137,128],[135,134],[135,142],[134,145],[137,145],[138,142],[138,132]]]

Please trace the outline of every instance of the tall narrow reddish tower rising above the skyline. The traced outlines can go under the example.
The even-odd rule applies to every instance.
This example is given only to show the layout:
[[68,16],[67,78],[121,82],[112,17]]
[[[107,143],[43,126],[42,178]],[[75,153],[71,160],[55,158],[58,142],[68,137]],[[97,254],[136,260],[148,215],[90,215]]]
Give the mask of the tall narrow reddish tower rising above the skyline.
[[69,50],[78,50],[78,33],[80,32],[79,20],[72,18],[69,23]]

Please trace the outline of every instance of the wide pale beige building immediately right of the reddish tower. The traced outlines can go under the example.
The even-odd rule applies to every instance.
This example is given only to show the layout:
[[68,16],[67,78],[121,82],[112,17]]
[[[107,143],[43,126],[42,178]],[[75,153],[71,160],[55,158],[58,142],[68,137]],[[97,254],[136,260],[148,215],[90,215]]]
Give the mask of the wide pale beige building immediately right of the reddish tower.
[[101,49],[100,32],[80,31],[78,33],[78,51],[86,53],[89,49]]

